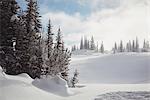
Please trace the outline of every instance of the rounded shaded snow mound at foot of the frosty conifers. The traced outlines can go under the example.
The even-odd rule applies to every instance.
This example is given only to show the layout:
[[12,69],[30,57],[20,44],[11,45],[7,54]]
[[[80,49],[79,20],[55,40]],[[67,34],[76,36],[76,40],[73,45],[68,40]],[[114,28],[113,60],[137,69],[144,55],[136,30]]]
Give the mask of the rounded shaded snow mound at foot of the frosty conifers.
[[71,96],[74,94],[69,90],[67,82],[60,76],[35,79],[32,84],[37,88],[60,96]]

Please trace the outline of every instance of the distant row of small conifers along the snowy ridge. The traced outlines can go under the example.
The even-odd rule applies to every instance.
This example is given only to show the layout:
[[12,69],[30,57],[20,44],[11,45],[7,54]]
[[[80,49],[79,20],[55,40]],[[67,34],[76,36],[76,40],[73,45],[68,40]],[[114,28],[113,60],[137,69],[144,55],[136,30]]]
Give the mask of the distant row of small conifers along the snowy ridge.
[[[95,44],[94,37],[92,36],[90,40],[88,40],[86,37],[82,37],[80,40],[79,47],[77,45],[72,46],[72,51],[76,50],[95,50],[100,53],[105,53],[104,44],[102,43]],[[143,46],[140,48],[139,46],[139,40],[138,37],[136,37],[135,40],[129,40],[126,45],[123,44],[123,41],[120,40],[120,43],[114,43],[114,46],[112,48],[113,53],[119,53],[119,52],[149,52],[150,51],[150,44],[149,41],[145,40],[143,41]]]

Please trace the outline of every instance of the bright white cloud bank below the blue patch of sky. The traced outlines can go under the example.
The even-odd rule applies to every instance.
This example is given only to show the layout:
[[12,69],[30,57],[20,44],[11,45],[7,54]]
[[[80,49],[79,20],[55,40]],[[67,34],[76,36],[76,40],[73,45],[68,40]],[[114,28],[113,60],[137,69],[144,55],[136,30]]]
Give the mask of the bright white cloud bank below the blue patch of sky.
[[150,39],[148,35],[150,33],[150,2],[148,0],[123,1],[117,8],[94,11],[85,19],[79,13],[68,15],[64,12],[49,12],[43,15],[43,23],[50,18],[54,30],[61,26],[67,45],[78,44],[83,35],[94,35],[99,43],[104,41],[106,49],[111,49],[115,41],[126,42],[129,39],[135,39],[136,36],[139,37],[140,42],[144,38]]

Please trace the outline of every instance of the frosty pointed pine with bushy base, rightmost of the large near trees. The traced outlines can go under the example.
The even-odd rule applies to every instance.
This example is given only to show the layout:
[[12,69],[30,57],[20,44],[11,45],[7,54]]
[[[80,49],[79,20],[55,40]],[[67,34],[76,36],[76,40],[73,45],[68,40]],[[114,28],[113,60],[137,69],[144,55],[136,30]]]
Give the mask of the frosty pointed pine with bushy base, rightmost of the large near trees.
[[70,62],[71,53],[68,49],[65,49],[64,42],[62,40],[62,34],[60,28],[56,36],[56,43],[52,51],[51,57],[47,62],[50,67],[48,74],[51,76],[61,74],[61,77],[68,81],[68,65]]

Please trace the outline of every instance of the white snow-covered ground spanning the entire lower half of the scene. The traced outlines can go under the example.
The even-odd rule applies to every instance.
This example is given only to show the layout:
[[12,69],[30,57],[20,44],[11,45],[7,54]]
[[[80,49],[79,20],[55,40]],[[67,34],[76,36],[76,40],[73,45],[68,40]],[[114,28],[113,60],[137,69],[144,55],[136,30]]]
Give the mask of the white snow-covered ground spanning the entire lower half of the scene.
[[70,73],[76,68],[80,83],[72,89],[58,76],[33,80],[0,69],[0,100],[150,100],[148,53],[73,55]]

